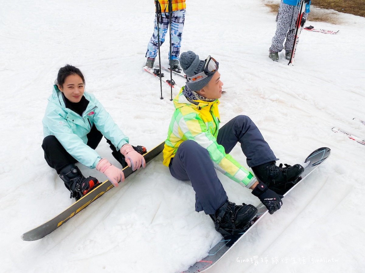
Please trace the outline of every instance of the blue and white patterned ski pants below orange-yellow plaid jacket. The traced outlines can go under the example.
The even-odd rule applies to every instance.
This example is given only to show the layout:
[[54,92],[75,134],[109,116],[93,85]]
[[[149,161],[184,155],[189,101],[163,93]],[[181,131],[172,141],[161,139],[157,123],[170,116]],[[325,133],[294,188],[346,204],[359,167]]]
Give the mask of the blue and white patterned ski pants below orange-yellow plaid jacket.
[[[173,11],[171,17],[171,49],[172,49],[172,59],[178,60],[180,56],[180,46],[181,46],[181,36],[183,35],[185,21],[185,9],[179,11]],[[169,14],[162,12],[162,24],[159,25],[160,31],[160,46],[165,41],[165,35],[168,33],[169,29]],[[170,34],[168,33],[168,37]],[[158,53],[158,34],[157,34],[157,15],[154,21],[154,32],[147,46],[146,57],[155,58]],[[170,44],[169,44],[170,46]],[[170,59],[170,51],[169,51]]]

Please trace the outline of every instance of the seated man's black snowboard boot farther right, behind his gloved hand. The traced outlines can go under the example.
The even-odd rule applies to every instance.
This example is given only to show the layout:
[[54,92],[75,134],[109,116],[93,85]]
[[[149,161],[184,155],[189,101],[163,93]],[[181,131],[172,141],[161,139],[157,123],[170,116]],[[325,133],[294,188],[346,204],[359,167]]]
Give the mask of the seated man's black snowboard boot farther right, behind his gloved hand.
[[271,161],[262,165],[252,167],[256,178],[265,183],[270,190],[277,194],[284,195],[291,189],[299,180],[300,174],[303,173],[304,168],[296,164],[290,166],[288,164],[276,166],[276,161]]

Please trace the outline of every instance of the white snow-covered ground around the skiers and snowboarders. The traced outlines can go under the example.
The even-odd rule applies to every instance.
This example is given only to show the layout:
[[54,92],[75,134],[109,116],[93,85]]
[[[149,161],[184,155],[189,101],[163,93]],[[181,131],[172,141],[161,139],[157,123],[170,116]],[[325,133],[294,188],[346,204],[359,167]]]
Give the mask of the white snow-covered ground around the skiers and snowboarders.
[[[142,70],[152,0],[13,0],[1,6],[0,272],[174,273],[205,257],[220,235],[207,215],[195,212],[191,185],[172,178],[161,155],[45,238],[20,239],[72,203],[41,149],[41,120],[60,67],[69,63],[84,72],[87,91],[132,145],[161,143],[173,105],[169,87],[163,86],[161,100],[159,81]],[[364,271],[365,147],[331,128],[365,137],[365,126],[352,120],[365,119],[365,18],[336,16],[341,24],[307,22],[340,31],[303,31],[296,65],[288,66],[283,52],[278,63],[268,58],[275,14],[261,1],[187,1],[181,52],[218,60],[227,91],[220,99],[223,124],[250,116],[278,163],[303,163],[319,147],[332,150],[279,211],[266,215],[207,273]],[[165,65],[167,52],[166,41]],[[117,164],[106,142],[97,151]],[[238,146],[232,155],[246,166]],[[96,170],[80,169],[105,180]],[[230,201],[259,203],[218,175]]]

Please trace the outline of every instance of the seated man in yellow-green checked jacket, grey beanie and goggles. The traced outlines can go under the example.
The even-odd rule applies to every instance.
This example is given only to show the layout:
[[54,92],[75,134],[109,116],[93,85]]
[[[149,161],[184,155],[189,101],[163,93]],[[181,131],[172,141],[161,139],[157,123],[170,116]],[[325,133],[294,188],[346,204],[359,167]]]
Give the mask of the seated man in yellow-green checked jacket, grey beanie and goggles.
[[[268,208],[280,209],[281,198],[299,179],[303,167],[276,166],[278,160],[257,126],[247,116],[237,116],[219,129],[219,98],[223,83],[218,62],[200,60],[192,51],[180,56],[187,83],[174,99],[164,165],[179,180],[190,180],[196,193],[196,211],[204,210],[223,235],[244,232],[256,216],[253,205],[228,201],[215,169],[249,189]],[[229,155],[239,142],[256,177]]]

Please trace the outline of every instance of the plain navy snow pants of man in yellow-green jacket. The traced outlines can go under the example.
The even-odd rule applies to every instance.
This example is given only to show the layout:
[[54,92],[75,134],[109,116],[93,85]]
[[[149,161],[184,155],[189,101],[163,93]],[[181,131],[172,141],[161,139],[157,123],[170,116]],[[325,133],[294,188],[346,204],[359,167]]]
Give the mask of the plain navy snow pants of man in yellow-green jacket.
[[[249,167],[278,160],[248,116],[236,116],[220,128],[217,142],[224,147],[226,154],[239,142]],[[207,149],[195,141],[187,140],[180,144],[169,168],[173,177],[191,181],[196,211],[214,214],[228,199]]]

